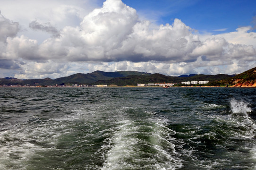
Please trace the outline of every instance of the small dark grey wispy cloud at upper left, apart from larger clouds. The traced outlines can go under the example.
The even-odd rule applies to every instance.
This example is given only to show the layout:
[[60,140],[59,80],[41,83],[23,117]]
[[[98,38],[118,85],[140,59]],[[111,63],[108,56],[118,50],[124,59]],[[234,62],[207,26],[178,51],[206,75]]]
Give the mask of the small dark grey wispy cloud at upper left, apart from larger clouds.
[[41,24],[37,20],[34,20],[29,24],[29,27],[33,30],[39,30],[50,33],[54,37],[60,36],[60,32],[54,26],[51,26],[49,22]]

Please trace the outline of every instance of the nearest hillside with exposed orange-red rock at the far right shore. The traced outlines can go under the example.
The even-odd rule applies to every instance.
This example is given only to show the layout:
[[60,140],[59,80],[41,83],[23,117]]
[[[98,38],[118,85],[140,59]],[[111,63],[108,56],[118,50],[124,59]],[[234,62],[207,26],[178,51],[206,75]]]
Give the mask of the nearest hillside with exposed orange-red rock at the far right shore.
[[233,85],[233,87],[256,87],[256,67],[222,80],[221,83]]

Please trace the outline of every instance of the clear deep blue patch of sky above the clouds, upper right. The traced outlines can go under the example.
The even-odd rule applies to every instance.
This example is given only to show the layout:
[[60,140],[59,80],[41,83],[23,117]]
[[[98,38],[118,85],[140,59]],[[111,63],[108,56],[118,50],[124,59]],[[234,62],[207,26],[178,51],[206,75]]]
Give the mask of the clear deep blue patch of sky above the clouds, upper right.
[[[240,26],[252,25],[256,16],[256,0],[123,0],[138,13],[157,19],[157,24],[181,19],[200,32],[226,29],[235,31]],[[255,30],[254,30],[255,31]]]

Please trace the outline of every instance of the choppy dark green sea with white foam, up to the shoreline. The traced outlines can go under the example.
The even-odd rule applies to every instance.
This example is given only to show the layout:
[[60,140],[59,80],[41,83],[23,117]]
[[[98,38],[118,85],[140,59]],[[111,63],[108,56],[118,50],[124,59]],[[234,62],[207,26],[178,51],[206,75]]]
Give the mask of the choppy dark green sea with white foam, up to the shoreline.
[[256,88],[0,88],[0,170],[255,170]]

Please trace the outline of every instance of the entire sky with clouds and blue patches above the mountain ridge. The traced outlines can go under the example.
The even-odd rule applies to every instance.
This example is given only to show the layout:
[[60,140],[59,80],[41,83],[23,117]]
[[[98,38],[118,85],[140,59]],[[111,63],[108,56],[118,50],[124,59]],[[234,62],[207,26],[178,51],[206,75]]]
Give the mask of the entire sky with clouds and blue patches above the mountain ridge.
[[0,0],[0,77],[256,67],[255,0]]

